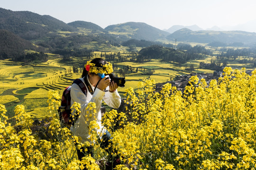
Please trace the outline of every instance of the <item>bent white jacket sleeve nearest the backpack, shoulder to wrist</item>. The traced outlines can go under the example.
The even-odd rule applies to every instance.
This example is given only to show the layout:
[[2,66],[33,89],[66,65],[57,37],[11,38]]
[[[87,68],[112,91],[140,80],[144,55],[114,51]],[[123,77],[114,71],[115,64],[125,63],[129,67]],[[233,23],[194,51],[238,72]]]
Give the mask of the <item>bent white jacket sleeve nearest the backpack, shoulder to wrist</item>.
[[[87,91],[88,93],[88,91]],[[92,98],[90,101],[87,101],[87,97],[82,93],[81,88],[77,84],[73,84],[71,86],[70,95],[73,102],[78,102],[81,104],[81,113],[83,116],[86,114],[86,107],[89,102],[94,102],[96,104],[96,113],[95,117],[98,118],[98,114],[101,110],[101,102],[103,99],[105,92],[101,91],[100,89],[96,88],[95,92],[92,95]]]

